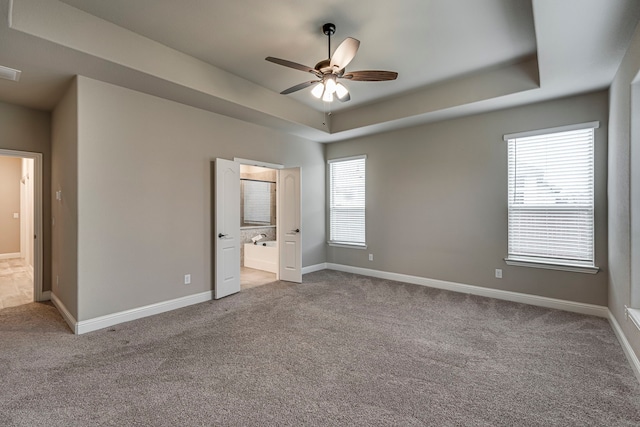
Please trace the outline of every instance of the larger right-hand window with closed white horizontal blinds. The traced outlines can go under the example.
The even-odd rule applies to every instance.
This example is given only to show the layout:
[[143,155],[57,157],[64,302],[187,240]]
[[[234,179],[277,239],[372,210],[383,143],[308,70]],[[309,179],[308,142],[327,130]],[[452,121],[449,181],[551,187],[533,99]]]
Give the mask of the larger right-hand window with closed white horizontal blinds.
[[507,264],[596,273],[594,128],[598,122],[505,135]]

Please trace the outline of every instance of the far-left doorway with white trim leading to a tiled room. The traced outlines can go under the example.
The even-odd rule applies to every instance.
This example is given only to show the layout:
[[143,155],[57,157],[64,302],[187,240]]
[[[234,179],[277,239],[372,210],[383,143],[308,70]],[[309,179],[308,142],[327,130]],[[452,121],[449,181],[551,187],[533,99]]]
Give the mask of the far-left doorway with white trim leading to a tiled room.
[[42,292],[42,155],[0,150],[0,309]]

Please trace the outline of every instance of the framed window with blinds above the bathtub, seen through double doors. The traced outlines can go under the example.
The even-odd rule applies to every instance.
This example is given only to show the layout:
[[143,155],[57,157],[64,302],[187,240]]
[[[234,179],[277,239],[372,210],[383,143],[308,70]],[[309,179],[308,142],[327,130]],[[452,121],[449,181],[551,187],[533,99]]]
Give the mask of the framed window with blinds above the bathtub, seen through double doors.
[[276,183],[240,180],[240,227],[276,225]]

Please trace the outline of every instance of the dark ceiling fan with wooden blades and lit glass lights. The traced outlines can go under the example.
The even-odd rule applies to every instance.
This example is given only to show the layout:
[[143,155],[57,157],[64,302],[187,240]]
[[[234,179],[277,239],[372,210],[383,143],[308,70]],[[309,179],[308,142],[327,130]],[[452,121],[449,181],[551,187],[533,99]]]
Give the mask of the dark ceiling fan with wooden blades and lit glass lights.
[[356,52],[358,52],[360,41],[352,37],[347,37],[336,48],[333,56],[331,56],[331,36],[335,34],[336,26],[331,23],[324,24],[322,26],[322,32],[328,37],[329,59],[324,59],[318,62],[313,68],[296,62],[287,61],[286,59],[274,58],[272,56],[265,58],[267,61],[273,62],[274,64],[305,71],[318,78],[318,80],[311,80],[292,86],[289,89],[285,89],[280,92],[282,95],[287,95],[315,85],[311,90],[311,93],[316,98],[322,98],[325,102],[332,102],[335,95],[339,101],[346,102],[351,99],[349,90],[345,85],[338,82],[338,79],[361,82],[383,82],[395,80],[398,77],[398,73],[395,71],[367,70],[346,72],[346,66],[349,65],[351,60],[356,56]]

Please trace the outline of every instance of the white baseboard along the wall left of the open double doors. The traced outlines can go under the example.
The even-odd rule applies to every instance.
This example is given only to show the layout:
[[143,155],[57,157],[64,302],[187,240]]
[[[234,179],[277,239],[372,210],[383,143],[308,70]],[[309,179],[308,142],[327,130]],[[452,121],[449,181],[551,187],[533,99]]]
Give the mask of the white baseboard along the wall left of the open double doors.
[[108,328],[109,326],[142,319],[143,317],[153,316],[155,314],[176,310],[193,304],[199,304],[212,299],[213,291],[206,291],[169,301],[145,305],[143,307],[132,308],[131,310],[94,317],[93,319],[81,320],[76,323],[75,333],[78,335],[85,334],[87,332],[97,331],[98,329]]

